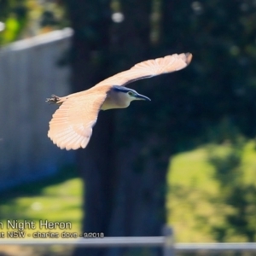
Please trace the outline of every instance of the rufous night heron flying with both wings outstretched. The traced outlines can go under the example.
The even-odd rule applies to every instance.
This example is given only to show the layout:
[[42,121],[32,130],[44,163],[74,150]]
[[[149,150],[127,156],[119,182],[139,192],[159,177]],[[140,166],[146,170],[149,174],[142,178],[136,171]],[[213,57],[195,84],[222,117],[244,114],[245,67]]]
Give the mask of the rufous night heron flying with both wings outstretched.
[[53,102],[61,107],[55,111],[49,122],[48,137],[61,149],[85,148],[101,109],[127,108],[135,100],[150,101],[147,96],[123,86],[138,79],[183,69],[189,65],[191,59],[192,55],[186,53],[143,61],[103,80],[89,90],[64,97],[52,96],[46,102]]

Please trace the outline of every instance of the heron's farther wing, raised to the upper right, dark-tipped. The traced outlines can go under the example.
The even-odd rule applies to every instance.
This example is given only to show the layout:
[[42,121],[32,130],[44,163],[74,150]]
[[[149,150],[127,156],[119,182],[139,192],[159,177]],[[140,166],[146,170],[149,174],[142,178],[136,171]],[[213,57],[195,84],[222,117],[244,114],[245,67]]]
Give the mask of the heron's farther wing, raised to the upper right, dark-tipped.
[[110,84],[125,86],[126,84],[139,79],[148,79],[163,73],[178,71],[187,67],[191,60],[192,55],[190,53],[182,53],[179,55],[167,55],[166,57],[155,60],[143,61],[131,67],[129,70],[117,73],[112,77],[103,80],[99,84],[96,84],[96,86]]

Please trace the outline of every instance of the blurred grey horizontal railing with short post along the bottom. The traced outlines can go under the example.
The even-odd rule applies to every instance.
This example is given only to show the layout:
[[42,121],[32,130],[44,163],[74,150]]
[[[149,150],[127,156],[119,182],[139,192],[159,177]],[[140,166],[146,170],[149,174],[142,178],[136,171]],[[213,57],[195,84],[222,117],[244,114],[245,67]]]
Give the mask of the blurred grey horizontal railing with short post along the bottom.
[[176,252],[196,251],[255,251],[256,242],[173,242],[172,228],[166,227],[165,236],[132,236],[104,238],[53,238],[53,239],[0,239],[0,245],[74,245],[79,247],[163,247],[164,256],[174,256]]

